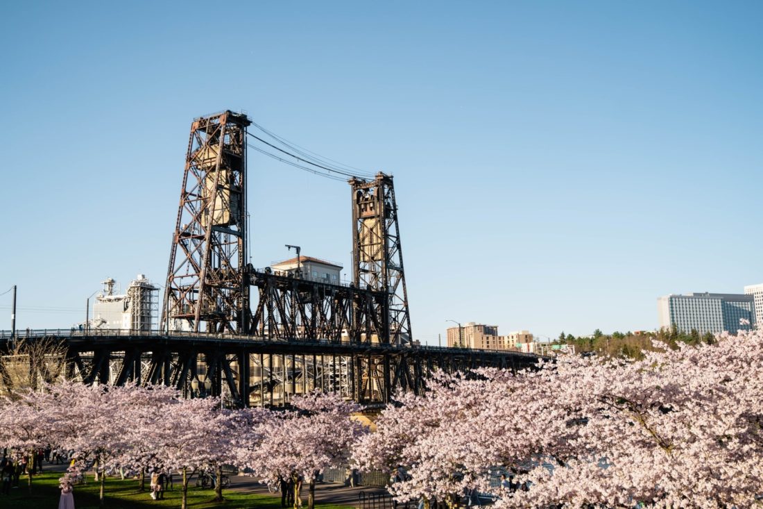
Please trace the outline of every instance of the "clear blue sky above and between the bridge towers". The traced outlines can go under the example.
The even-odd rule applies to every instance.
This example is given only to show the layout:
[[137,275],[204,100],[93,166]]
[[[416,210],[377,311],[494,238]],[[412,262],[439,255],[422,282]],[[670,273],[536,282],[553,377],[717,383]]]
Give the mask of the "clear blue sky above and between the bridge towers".
[[[233,109],[394,174],[418,339],[653,329],[661,295],[763,282],[761,26],[761,2],[5,2],[0,293],[68,327],[106,277],[163,283],[192,118]],[[253,263],[349,266],[349,186],[251,154]]]

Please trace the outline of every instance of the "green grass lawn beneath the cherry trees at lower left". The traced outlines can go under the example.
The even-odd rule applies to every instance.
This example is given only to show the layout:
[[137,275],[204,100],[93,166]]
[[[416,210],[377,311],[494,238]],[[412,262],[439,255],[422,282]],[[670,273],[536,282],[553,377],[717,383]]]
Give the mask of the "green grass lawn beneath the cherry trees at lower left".
[[[11,488],[10,495],[0,494],[0,507],[13,509],[55,509],[58,507],[60,490],[58,479],[62,472],[44,472],[35,475],[32,480],[32,491],[27,486],[27,478],[22,477],[18,488]],[[192,483],[193,484],[193,483]],[[134,479],[121,481],[118,478],[107,478],[104,495],[106,509],[143,509],[144,507],[180,507],[182,492],[181,485],[175,482],[175,489],[165,491],[164,500],[154,501],[148,491],[139,491],[139,483]],[[146,480],[146,488],[148,481]],[[98,492],[100,485],[88,475],[87,485],[74,488],[74,505],[76,509],[98,509]],[[235,491],[223,490],[224,502],[217,503],[214,491],[211,489],[188,486],[188,507],[193,509],[281,509],[281,499],[262,494],[241,494]],[[305,503],[307,498],[303,497]],[[306,506],[305,506],[306,507]],[[317,505],[320,509],[347,509],[340,505]]]

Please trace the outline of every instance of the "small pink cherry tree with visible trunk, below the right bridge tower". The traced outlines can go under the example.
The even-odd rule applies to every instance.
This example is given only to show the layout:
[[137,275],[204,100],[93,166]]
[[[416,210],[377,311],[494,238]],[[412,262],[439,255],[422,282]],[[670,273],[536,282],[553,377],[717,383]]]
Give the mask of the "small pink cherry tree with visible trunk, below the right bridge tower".
[[360,410],[339,394],[315,392],[294,397],[295,410],[273,411],[260,421],[259,446],[239,449],[239,464],[277,485],[278,477],[295,483],[295,507],[299,483],[309,486],[307,507],[313,509],[315,478],[325,468],[349,460],[350,446],[365,433],[365,426],[352,418]]

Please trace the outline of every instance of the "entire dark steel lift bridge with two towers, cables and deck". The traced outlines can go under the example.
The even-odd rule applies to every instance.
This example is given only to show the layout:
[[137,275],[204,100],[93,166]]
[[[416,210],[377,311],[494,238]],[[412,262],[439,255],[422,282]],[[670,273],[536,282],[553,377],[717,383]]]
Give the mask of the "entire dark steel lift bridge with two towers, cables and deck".
[[[109,331],[85,323],[82,331],[27,331],[30,339],[66,345],[72,378],[163,383],[188,397],[221,396],[239,407],[288,404],[293,395],[314,390],[386,404],[395,391],[423,391],[434,370],[519,369],[536,362],[535,355],[519,352],[421,346],[410,326],[391,175],[332,170],[296,148],[291,153],[288,144],[279,148],[259,138],[251,126],[272,135],[230,111],[192,122],[160,330]],[[350,284],[304,277],[299,251],[294,271],[275,273],[247,262],[250,138],[278,150],[269,154],[278,160],[294,157],[349,177]],[[11,333],[3,332],[3,339],[8,348]]]

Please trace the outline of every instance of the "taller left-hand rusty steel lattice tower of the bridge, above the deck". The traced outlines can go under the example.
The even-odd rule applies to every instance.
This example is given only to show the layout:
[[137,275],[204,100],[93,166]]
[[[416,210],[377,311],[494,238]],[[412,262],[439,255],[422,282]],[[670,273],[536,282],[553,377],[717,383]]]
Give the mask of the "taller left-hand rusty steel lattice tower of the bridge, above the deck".
[[185,156],[162,311],[163,328],[243,332],[246,279],[246,115],[196,118]]

